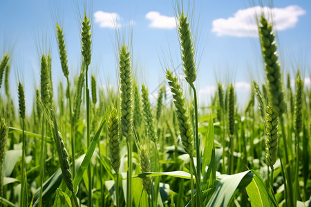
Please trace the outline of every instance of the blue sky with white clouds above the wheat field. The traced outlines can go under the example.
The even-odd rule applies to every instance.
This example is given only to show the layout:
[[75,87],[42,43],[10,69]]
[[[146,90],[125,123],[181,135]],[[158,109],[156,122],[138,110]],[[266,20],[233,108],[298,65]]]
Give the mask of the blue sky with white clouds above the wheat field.
[[[263,81],[265,73],[254,24],[254,11],[260,8],[253,8],[256,5],[252,2],[196,1],[191,17],[193,27],[198,25],[199,34],[196,57],[200,65],[196,86],[200,103],[208,103],[217,81],[221,81],[236,83],[238,104],[242,106],[248,99],[251,78]],[[39,86],[39,55],[46,48],[50,48],[53,58],[54,88],[59,81],[65,81],[55,39],[56,22],[64,28],[70,78],[77,75],[81,62],[79,22],[84,4],[84,1],[1,1],[0,55],[14,46],[10,88],[15,98],[17,77],[22,77],[26,101],[32,103],[34,88]],[[96,75],[97,83],[117,87],[115,48],[118,41],[111,23],[111,19],[116,19],[114,25],[120,26],[126,42],[129,40],[126,34],[133,28],[133,68],[139,83],[147,84],[152,96],[153,90],[165,80],[164,67],[173,68],[181,63],[173,4],[164,0],[88,3],[86,11],[93,21],[90,72]],[[187,10],[187,3],[184,9]],[[271,11],[284,70],[293,75],[296,68],[301,68],[305,83],[310,86],[310,1],[277,0]],[[178,71],[181,75],[182,70]],[[3,87],[0,90],[3,94]]]

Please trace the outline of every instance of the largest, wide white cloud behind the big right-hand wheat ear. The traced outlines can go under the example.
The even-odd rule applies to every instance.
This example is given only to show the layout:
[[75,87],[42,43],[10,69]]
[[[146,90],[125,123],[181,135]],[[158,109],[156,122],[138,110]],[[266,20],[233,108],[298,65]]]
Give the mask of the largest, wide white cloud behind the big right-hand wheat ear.
[[294,28],[298,17],[305,14],[305,10],[295,5],[285,8],[255,6],[238,10],[234,17],[228,19],[215,19],[212,32],[216,32],[217,36],[258,37],[256,14],[261,15],[261,12],[264,12],[265,17],[270,17],[273,14],[276,30],[279,31]]

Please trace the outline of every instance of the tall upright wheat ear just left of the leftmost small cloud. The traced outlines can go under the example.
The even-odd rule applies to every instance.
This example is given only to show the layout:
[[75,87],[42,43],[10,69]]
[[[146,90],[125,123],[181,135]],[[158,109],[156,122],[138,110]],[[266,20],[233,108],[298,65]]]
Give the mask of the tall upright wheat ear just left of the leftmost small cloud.
[[91,23],[90,19],[86,17],[86,14],[84,13],[84,18],[82,21],[82,56],[84,57],[84,62],[86,64],[86,68],[91,63]]

